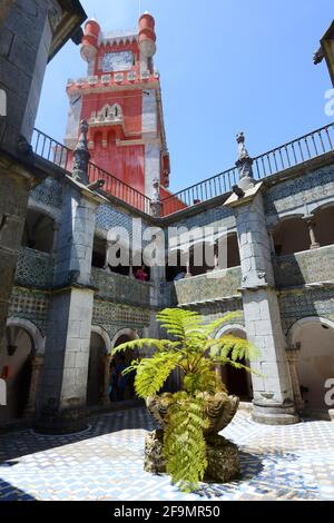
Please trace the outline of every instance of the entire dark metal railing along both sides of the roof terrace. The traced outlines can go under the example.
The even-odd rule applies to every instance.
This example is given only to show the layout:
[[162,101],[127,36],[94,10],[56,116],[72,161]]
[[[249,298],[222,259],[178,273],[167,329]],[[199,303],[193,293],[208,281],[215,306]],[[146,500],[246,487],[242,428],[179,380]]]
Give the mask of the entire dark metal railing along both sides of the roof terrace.
[[[37,129],[33,132],[32,148],[36,155],[62,167],[70,174],[73,155],[71,149],[68,149]],[[264,179],[272,175],[278,175],[286,169],[331,152],[333,149],[334,124],[330,124],[254,158],[254,177],[256,179]],[[89,179],[90,181],[105,180],[104,189],[109,195],[126,201],[131,207],[147,215],[150,214],[150,199],[147,196],[91,162],[89,164]],[[168,196],[163,200],[163,216],[173,215],[199,203],[228,194],[232,187],[238,182],[238,170],[236,167],[233,167],[175,195]]]

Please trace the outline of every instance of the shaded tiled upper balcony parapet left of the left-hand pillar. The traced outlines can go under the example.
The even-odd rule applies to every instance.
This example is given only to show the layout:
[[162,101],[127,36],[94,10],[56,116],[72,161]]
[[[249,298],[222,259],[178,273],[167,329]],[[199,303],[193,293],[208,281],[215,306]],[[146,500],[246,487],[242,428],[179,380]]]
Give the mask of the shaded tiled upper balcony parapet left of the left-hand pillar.
[[20,249],[16,272],[17,285],[48,289],[52,287],[55,259],[51,255]]

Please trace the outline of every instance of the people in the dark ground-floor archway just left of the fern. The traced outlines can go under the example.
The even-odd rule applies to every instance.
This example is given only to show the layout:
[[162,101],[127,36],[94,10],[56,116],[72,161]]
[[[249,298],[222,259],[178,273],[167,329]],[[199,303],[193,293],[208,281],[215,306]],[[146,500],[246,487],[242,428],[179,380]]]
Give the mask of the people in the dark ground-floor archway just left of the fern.
[[[124,375],[126,371],[126,357],[124,354],[116,354],[116,356],[110,362],[109,367],[109,399],[110,402],[124,402],[125,399],[130,399],[135,395],[134,373]],[[128,393],[128,397],[126,397]]]

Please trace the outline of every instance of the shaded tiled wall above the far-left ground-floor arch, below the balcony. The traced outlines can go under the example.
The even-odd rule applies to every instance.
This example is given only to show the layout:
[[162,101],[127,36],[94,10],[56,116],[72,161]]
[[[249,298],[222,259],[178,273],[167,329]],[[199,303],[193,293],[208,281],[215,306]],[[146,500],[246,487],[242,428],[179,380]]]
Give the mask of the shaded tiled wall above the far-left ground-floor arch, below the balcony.
[[9,317],[28,319],[45,336],[48,326],[49,304],[50,296],[47,293],[13,287],[10,298]]

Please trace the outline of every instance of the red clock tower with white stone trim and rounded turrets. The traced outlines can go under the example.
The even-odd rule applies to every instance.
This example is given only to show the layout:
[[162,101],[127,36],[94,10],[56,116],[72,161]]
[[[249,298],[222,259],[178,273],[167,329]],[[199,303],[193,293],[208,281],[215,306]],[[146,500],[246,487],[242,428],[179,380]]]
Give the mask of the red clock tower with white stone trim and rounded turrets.
[[66,145],[75,148],[80,120],[88,120],[91,161],[148,197],[159,178],[164,197],[170,167],[155,53],[155,20],[148,13],[138,31],[102,33],[96,20],[86,23],[81,57],[88,77],[67,86]]

